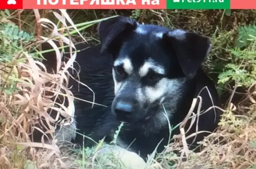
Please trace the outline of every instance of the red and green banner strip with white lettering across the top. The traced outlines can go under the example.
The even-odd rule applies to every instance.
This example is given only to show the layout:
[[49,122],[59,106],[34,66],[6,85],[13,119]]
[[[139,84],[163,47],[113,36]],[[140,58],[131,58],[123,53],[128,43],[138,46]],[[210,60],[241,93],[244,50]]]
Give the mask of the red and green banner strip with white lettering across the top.
[[256,9],[256,0],[0,0],[0,9]]

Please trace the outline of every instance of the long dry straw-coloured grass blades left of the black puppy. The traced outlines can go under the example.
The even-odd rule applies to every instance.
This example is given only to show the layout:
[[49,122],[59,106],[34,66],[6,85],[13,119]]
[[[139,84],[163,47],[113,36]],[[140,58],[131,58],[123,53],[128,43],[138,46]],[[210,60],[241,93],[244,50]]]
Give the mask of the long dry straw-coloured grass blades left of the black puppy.
[[[22,12],[24,11],[18,11],[18,16]],[[60,34],[56,24],[46,18],[40,18],[38,10],[34,9],[34,13],[37,20],[38,36],[36,39],[39,43],[47,41],[56,51],[56,74],[47,72],[45,65],[27,52],[36,43],[23,44],[24,49],[17,51],[12,60],[0,63],[2,89],[0,102],[2,129],[0,133],[0,168],[2,169],[51,168],[51,161],[57,161],[62,167],[65,166],[60,160],[60,149],[56,146],[56,142],[53,141],[52,144],[49,141],[44,142],[44,140],[42,140],[42,143],[31,142],[29,140],[31,134],[29,131],[31,130],[29,129],[43,132],[42,128],[35,126],[35,123],[39,122],[41,127],[47,129],[43,132],[44,134],[52,134],[56,128],[53,124],[56,123],[60,114],[66,117],[64,122],[59,123],[60,125],[67,126],[72,122],[74,97],[64,82],[68,81],[68,69],[72,68],[76,53],[71,54],[71,58],[66,64],[61,63],[62,55],[56,44],[53,43],[52,38],[57,37],[60,42],[69,44],[71,51],[75,50],[75,46],[70,38]],[[53,14],[64,25],[62,28],[65,28],[65,31],[70,32],[69,29],[72,28],[79,32],[65,10],[60,10],[60,14],[57,12],[53,12]],[[4,18],[4,20],[7,19]],[[67,23],[71,26],[68,27]],[[42,27],[52,30],[50,37],[41,35]],[[6,43],[4,40],[2,43]],[[3,90],[14,86],[17,90],[12,94],[7,94]],[[54,102],[59,95],[64,95],[67,98],[68,107],[65,107],[62,103]],[[56,119],[47,113],[49,109],[58,112]]]

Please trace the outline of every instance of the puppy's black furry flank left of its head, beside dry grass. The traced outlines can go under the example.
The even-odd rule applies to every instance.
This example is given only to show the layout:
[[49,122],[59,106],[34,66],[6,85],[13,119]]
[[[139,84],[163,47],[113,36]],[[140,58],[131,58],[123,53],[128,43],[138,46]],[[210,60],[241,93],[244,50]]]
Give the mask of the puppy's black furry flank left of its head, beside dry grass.
[[[111,107],[114,94],[111,75],[111,59],[109,55],[99,55],[100,46],[90,47],[77,55],[76,62],[80,64],[80,81],[86,84],[95,92],[95,102],[108,107],[94,105],[83,101],[75,102],[77,132],[84,134],[98,142],[104,136],[105,141],[112,141],[112,131],[116,129],[119,122],[111,114]],[[75,97],[93,101],[92,91],[80,84],[80,91],[77,92],[77,83],[71,81],[72,92]],[[76,135],[76,143],[83,142],[82,135]],[[89,144],[90,143],[90,144]],[[85,146],[94,145],[92,141],[85,141]]]

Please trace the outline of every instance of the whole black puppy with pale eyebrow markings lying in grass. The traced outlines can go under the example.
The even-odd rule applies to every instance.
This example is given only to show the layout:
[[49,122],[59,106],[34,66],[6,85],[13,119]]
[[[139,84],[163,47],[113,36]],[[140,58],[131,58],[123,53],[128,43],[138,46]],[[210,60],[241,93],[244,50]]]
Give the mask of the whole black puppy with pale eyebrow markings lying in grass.
[[[200,151],[198,141],[216,130],[221,112],[214,83],[201,68],[211,51],[211,41],[194,32],[170,30],[135,19],[116,16],[98,25],[100,45],[77,53],[80,81],[95,93],[95,102],[107,107],[75,101],[75,125],[78,133],[108,143],[121,122],[117,145],[140,155],[164,150],[173,134],[180,134],[180,124],[188,115],[194,98],[196,117],[186,136],[190,149]],[[83,45],[78,48],[83,48]],[[50,55],[48,55],[48,58]],[[88,87],[70,80],[75,97],[93,100]],[[80,86],[78,91],[78,86]],[[201,98],[201,101],[199,98]],[[184,126],[188,130],[191,119]],[[64,131],[67,138],[70,131]],[[84,141],[85,140],[85,141]],[[74,143],[92,146],[80,134]],[[160,144],[159,144],[160,143]]]

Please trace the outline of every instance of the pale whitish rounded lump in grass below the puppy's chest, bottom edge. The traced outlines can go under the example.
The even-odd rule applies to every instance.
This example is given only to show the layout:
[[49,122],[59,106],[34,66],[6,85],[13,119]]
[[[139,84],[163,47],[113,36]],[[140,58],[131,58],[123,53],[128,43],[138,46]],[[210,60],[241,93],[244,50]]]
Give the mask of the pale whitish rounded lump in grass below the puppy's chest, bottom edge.
[[[100,161],[104,158],[104,163],[115,165],[122,169],[145,169],[146,162],[136,153],[119,147],[118,145],[106,145],[96,153],[96,158]],[[113,167],[115,168],[115,167]]]

